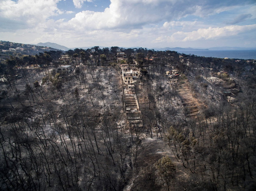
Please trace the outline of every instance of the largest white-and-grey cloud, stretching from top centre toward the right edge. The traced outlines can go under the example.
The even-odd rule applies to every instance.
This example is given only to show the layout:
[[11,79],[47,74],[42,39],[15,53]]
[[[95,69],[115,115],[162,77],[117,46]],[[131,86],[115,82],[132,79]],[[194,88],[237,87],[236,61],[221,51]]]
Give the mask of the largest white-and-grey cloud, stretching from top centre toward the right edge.
[[[76,7],[81,7],[84,1],[73,0]],[[231,0],[222,3],[211,0],[111,0],[109,8],[104,12],[88,10],[79,12],[67,25],[79,29],[134,29],[149,23],[177,20],[187,15],[204,18],[221,10],[231,9],[233,2]]]

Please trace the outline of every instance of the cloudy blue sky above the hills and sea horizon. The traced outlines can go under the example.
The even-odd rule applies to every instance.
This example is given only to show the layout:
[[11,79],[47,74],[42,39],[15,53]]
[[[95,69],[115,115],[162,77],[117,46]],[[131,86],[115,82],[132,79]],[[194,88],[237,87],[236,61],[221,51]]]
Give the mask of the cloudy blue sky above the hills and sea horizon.
[[68,48],[256,47],[256,0],[0,0],[0,40]]

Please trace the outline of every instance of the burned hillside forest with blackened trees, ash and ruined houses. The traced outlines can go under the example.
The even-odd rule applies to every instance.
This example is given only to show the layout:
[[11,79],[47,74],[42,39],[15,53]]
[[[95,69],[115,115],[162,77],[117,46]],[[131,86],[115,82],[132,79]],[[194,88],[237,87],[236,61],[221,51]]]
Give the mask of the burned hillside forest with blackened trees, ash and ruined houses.
[[255,190],[255,64],[116,46],[2,56],[0,190]]

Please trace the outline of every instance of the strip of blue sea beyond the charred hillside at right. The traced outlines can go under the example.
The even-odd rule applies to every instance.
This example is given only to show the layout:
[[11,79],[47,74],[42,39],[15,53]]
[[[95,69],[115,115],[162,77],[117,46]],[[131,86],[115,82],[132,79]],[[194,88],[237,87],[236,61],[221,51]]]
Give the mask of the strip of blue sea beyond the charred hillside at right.
[[196,56],[234,59],[256,59],[256,50],[175,50],[178,53]]

